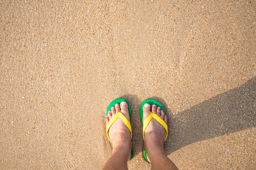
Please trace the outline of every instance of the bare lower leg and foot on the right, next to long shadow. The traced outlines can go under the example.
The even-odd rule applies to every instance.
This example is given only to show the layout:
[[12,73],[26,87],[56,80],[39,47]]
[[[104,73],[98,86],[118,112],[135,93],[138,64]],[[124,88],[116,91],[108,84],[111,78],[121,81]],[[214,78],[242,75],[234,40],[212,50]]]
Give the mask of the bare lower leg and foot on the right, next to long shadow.
[[[152,105],[152,113],[156,113],[167,124],[167,117],[161,108]],[[150,114],[150,104],[145,104],[143,107],[143,121]],[[175,164],[164,154],[164,138],[166,131],[164,127],[154,118],[150,121],[145,130],[145,148],[147,158],[151,162],[152,169],[178,169]]]

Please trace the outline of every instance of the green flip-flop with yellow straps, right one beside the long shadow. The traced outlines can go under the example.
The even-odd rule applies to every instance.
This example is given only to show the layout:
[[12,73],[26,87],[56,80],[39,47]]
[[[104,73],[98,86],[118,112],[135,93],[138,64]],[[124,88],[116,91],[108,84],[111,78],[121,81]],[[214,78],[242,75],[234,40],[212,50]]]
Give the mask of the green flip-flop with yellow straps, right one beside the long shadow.
[[[148,117],[146,118],[146,120],[143,124],[143,106],[146,103],[150,104],[150,114],[148,115]],[[168,136],[168,126],[163,121],[163,119],[161,119],[158,115],[151,112],[152,111],[151,108],[152,108],[153,104],[155,104],[157,107],[161,108],[161,110],[164,111],[164,107],[162,106],[162,104],[159,103],[158,101],[155,101],[154,99],[147,99],[147,100],[143,101],[143,103],[141,103],[141,105],[140,105],[140,119],[141,119],[141,123],[143,125],[143,140],[144,140],[144,132],[145,132],[145,129],[147,128],[147,125],[149,124],[150,120],[152,120],[152,118],[155,118],[157,120],[157,122],[159,122],[159,124],[163,125],[164,129],[166,130],[166,137],[164,139],[164,141],[165,141],[167,136]],[[166,115],[165,111],[164,111],[164,115]],[[147,162],[149,162],[148,159],[147,159],[147,152],[146,152],[145,148],[143,150],[143,155],[144,155],[145,160],[147,160]]]

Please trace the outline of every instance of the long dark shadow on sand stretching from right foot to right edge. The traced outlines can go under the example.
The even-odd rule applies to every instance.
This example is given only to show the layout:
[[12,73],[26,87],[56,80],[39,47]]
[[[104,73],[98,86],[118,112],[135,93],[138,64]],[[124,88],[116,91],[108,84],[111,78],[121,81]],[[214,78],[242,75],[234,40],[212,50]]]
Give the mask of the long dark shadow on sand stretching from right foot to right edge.
[[166,154],[197,141],[256,126],[256,77],[175,116],[163,99],[152,99],[163,104],[168,114]]

